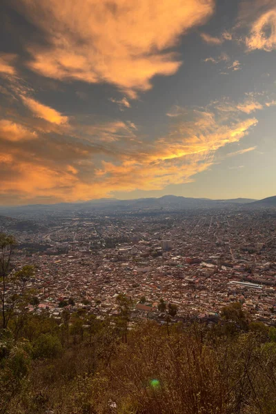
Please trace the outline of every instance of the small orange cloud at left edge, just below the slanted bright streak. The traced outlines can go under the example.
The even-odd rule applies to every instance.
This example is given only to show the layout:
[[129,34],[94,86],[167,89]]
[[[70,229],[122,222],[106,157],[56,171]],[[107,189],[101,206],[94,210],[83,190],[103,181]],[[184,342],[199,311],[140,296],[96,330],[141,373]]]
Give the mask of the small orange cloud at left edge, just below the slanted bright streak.
[[8,119],[0,119],[0,138],[6,141],[26,141],[36,139],[37,132]]

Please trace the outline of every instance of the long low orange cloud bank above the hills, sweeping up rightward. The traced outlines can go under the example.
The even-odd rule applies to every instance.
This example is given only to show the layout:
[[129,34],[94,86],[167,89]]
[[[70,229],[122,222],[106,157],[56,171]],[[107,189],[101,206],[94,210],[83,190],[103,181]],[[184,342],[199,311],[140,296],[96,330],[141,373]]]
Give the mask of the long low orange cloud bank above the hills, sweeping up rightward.
[[[237,108],[221,112],[217,106],[172,108],[170,112],[178,116],[172,117],[168,135],[156,141],[143,141],[131,123],[114,121],[106,126],[84,126],[86,141],[76,140],[70,146],[66,137],[62,141],[50,135],[42,150],[41,145],[27,143],[20,148],[6,145],[10,158],[2,163],[0,194],[6,199],[10,194],[10,200],[17,195],[21,203],[38,202],[41,197],[74,201],[193,181],[196,174],[214,164],[215,151],[239,142],[257,124],[255,118],[240,118],[244,112]],[[133,134],[133,141],[127,138],[127,147],[122,145],[124,133]],[[116,134],[117,139],[108,139]],[[101,135],[103,139],[99,139]]]

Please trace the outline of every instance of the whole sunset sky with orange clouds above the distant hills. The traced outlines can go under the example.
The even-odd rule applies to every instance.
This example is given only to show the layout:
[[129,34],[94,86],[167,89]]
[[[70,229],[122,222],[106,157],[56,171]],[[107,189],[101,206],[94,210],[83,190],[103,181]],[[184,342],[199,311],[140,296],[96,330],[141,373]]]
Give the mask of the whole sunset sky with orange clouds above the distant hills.
[[0,204],[276,194],[275,0],[2,0]]

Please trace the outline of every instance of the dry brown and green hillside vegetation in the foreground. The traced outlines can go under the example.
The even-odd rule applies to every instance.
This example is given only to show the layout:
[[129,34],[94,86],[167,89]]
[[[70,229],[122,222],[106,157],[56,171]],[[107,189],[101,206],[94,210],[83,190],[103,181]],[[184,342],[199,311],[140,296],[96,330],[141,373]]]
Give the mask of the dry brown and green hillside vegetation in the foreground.
[[63,312],[1,330],[0,413],[276,413],[276,330]]

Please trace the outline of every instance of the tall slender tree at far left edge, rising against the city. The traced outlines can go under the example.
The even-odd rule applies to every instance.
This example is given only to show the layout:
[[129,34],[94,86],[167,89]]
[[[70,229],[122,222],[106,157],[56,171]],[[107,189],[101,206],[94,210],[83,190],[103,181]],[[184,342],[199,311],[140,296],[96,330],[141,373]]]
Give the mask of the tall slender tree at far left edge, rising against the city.
[[12,257],[12,250],[16,244],[13,236],[8,236],[5,233],[0,233],[0,299],[1,311],[3,319],[3,329],[8,326],[8,315],[6,312],[6,293],[8,276],[10,275],[10,259]]

